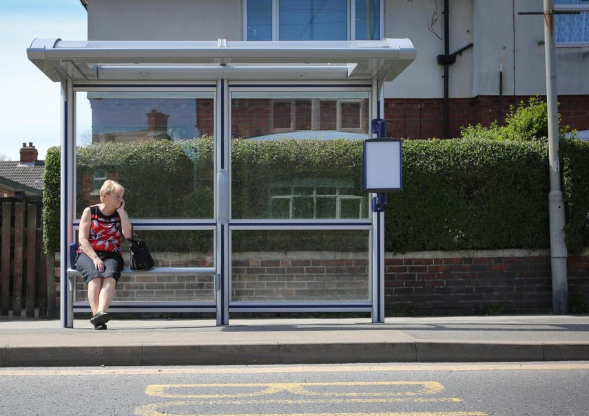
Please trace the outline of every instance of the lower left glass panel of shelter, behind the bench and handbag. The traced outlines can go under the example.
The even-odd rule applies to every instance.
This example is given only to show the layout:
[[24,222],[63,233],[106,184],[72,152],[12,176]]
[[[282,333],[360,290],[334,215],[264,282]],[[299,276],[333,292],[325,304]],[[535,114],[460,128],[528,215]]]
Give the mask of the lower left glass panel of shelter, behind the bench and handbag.
[[[156,267],[214,267],[212,231],[138,231]],[[123,242],[125,267],[130,265],[128,243]],[[87,288],[81,277],[76,279],[76,300],[87,299]],[[114,302],[138,301],[213,301],[214,276],[174,274],[125,274],[116,285]]]

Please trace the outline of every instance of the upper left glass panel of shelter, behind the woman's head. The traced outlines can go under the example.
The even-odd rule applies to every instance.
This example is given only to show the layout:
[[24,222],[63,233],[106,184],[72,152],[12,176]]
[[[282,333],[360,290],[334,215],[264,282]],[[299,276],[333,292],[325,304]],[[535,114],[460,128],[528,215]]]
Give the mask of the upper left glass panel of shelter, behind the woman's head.
[[[132,218],[213,218],[214,93],[76,93],[76,215],[105,179]],[[174,186],[170,186],[174,184]]]

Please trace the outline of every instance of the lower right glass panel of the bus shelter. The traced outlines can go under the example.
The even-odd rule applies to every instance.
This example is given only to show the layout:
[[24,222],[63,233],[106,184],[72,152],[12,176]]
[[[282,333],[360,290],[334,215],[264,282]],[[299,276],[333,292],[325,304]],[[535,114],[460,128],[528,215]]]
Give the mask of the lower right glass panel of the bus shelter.
[[231,300],[369,300],[366,230],[232,231]]

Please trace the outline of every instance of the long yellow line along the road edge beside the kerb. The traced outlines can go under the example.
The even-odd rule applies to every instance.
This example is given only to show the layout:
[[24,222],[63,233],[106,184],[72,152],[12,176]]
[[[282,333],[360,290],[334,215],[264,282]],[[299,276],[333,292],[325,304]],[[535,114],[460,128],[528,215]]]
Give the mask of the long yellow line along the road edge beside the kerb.
[[14,369],[0,370],[0,377],[66,375],[180,375],[252,373],[353,373],[363,371],[559,371],[589,370],[588,363],[521,364],[378,364],[363,366],[234,366],[234,367],[149,367],[125,369]]

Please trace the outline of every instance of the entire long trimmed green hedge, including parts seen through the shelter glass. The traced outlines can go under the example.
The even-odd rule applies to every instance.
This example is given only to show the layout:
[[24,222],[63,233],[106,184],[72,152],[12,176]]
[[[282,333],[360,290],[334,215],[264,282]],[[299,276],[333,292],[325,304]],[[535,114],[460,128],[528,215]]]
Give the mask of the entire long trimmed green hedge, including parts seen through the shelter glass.
[[[59,250],[59,148],[48,151],[44,175],[43,228],[47,252]],[[213,140],[209,137],[143,144],[92,144],[77,153],[78,195],[92,172],[105,171],[125,186],[132,217],[211,218]],[[235,139],[232,143],[232,212],[235,218],[267,215],[269,184],[322,177],[347,181],[347,192],[363,195],[362,141]],[[566,238],[570,252],[589,245],[589,143],[561,144]],[[86,178],[86,179],[83,179]],[[247,192],[245,192],[247,190]],[[548,248],[548,150],[545,142],[509,140],[405,140],[403,189],[389,195],[385,213],[388,251]],[[78,215],[96,200],[76,201]],[[366,203],[367,203],[366,199]],[[132,207],[132,208],[131,208]],[[151,234],[150,232],[149,236]],[[172,233],[173,234],[173,233]],[[162,233],[166,248],[186,244],[208,250],[212,241],[189,233]],[[196,233],[198,234],[198,233]],[[206,234],[206,233],[205,233]],[[330,233],[256,232],[256,241],[236,238],[236,249],[321,250]],[[236,233],[236,237],[243,235]],[[282,236],[277,241],[277,235]],[[248,234],[251,237],[251,233]],[[349,237],[349,238],[348,238]],[[364,250],[351,232],[331,250]]]

